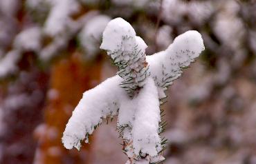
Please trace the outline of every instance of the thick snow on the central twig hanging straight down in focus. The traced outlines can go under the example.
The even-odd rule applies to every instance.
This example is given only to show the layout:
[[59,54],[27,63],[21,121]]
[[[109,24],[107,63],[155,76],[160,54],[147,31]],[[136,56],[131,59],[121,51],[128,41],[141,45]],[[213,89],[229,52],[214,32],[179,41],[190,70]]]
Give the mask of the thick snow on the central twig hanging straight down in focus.
[[147,78],[145,85],[136,97],[135,121],[133,124],[132,135],[134,153],[138,156],[139,152],[157,156],[158,149],[161,147],[161,139],[158,135],[158,122],[161,121],[158,92],[154,80]]

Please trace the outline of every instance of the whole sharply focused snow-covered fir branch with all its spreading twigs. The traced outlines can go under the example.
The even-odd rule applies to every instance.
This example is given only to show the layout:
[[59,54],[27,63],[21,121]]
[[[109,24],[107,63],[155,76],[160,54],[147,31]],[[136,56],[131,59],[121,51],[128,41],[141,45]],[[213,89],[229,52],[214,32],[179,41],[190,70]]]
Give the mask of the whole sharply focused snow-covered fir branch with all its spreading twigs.
[[81,141],[102,123],[118,115],[117,130],[128,163],[161,163],[166,143],[161,139],[165,123],[160,105],[165,90],[181,76],[182,70],[204,50],[201,34],[188,31],[174,39],[167,50],[145,55],[146,43],[121,18],[110,21],[103,32],[100,48],[107,51],[118,73],[97,87],[84,92],[64,131],[67,149]]

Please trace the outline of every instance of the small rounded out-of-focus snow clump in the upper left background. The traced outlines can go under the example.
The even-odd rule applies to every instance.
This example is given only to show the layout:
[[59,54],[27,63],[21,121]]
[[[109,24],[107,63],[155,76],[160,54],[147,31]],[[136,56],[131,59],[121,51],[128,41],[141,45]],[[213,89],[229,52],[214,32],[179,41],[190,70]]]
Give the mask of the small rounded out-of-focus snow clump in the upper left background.
[[17,50],[35,51],[41,49],[42,32],[39,27],[28,28],[17,35],[14,47]]

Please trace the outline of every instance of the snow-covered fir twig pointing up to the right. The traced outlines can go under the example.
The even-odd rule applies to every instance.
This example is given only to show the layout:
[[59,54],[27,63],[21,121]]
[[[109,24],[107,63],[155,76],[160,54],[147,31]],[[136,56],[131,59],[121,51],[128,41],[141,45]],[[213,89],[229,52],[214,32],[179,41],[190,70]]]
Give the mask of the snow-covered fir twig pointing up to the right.
[[167,50],[147,56],[150,76],[161,88],[172,85],[172,81],[181,76],[182,69],[188,67],[203,50],[201,34],[196,31],[185,32],[176,37]]

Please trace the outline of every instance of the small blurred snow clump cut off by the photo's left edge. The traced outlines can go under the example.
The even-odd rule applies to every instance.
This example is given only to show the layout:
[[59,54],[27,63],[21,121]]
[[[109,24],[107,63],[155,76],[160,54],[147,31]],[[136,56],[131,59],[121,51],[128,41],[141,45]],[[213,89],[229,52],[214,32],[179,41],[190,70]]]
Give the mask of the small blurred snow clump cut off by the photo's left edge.
[[20,58],[18,51],[13,50],[0,59],[0,78],[12,74],[17,70],[16,63]]

